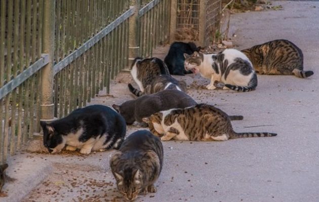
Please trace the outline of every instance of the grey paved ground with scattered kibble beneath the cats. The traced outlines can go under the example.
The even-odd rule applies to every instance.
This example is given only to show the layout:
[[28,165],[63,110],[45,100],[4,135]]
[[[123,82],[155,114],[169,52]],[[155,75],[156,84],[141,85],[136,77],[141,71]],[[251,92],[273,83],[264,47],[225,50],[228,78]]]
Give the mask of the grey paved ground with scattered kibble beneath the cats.
[[[136,201],[319,201],[319,2],[275,1],[281,11],[231,16],[230,34],[241,49],[273,39],[288,39],[304,55],[304,69],[314,75],[258,75],[255,91],[206,90],[200,76],[188,93],[197,102],[214,104],[231,115],[237,132],[275,132],[276,137],[242,138],[224,142],[164,142],[164,168],[157,193]],[[315,7],[315,8],[314,8]],[[157,49],[164,58],[166,47]],[[121,104],[132,95],[128,74],[112,81],[91,104]],[[197,87],[198,89],[196,89]],[[130,126],[128,134],[138,128]],[[4,191],[14,201],[124,201],[108,165],[113,151],[41,155],[22,153],[11,158],[8,173],[16,178]],[[31,192],[30,192],[31,191]],[[23,198],[23,199],[22,199]]]

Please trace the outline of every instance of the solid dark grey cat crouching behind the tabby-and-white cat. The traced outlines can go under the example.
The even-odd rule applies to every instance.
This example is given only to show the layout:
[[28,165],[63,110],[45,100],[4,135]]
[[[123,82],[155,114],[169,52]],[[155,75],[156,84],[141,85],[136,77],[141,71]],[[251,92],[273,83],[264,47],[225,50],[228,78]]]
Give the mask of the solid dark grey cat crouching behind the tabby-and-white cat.
[[121,114],[128,125],[135,121],[140,123],[141,127],[147,127],[142,118],[174,108],[185,108],[196,105],[193,98],[185,92],[179,90],[163,90],[154,94],[148,94],[137,99],[128,100],[122,105],[112,105],[112,107]]

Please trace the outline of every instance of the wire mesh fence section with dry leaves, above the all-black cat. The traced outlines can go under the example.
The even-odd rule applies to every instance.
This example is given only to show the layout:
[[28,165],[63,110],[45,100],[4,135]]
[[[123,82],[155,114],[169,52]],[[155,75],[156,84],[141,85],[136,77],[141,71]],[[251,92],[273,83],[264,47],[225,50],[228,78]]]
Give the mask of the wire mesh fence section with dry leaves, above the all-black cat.
[[221,18],[221,0],[172,0],[171,38],[180,41],[196,41],[208,45],[218,30]]

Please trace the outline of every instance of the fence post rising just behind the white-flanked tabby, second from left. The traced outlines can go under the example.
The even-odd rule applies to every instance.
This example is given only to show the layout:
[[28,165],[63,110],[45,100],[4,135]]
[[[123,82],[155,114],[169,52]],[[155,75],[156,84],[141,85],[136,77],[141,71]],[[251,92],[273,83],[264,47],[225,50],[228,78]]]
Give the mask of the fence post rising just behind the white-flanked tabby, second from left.
[[[129,61],[139,56],[138,44],[138,0],[130,0],[130,8],[134,8],[134,14],[129,19]],[[130,63],[131,65],[131,63]]]

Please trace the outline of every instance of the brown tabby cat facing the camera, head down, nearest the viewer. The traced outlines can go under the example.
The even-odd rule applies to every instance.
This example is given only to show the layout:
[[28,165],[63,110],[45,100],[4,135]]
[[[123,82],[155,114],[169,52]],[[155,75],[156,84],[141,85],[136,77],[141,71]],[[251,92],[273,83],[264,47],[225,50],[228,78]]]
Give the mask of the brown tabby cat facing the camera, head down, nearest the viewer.
[[154,183],[163,167],[163,145],[160,138],[148,130],[129,135],[121,148],[112,156],[110,167],[117,188],[128,200],[139,193],[156,192]]

